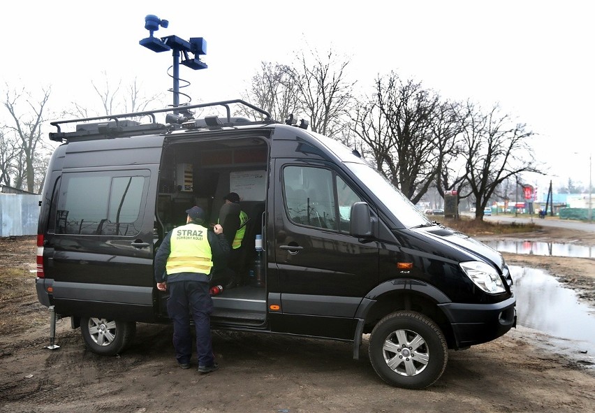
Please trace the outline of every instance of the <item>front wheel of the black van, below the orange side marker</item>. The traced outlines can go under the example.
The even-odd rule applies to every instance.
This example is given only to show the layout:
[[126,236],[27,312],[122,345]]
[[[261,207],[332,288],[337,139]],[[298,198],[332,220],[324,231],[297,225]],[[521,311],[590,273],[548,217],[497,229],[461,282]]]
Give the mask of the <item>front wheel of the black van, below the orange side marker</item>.
[[368,354],[381,379],[404,389],[431,386],[448,362],[440,328],[413,311],[397,311],[381,319],[370,335]]

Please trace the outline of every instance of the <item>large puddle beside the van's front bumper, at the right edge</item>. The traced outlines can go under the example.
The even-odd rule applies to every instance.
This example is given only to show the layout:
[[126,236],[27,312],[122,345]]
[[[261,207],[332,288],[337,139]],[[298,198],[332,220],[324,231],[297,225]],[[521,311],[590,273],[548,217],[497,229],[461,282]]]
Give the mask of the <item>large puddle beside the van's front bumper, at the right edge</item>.
[[578,301],[543,270],[510,266],[517,298],[517,324],[554,338],[552,351],[566,352],[595,368],[595,308]]

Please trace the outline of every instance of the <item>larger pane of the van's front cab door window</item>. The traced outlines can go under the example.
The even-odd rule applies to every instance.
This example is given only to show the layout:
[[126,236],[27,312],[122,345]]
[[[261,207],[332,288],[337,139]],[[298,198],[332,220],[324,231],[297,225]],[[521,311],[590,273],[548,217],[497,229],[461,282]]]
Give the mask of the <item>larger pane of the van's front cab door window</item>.
[[283,177],[286,210],[291,221],[338,231],[332,171],[287,166]]

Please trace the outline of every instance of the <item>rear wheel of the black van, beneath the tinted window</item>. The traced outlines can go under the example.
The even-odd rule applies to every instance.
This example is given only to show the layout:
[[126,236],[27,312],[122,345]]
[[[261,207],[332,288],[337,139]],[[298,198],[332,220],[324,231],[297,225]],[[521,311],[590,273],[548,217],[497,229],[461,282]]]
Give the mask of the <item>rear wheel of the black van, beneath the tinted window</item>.
[[81,317],[80,331],[87,348],[102,356],[114,356],[131,344],[136,323],[97,317]]

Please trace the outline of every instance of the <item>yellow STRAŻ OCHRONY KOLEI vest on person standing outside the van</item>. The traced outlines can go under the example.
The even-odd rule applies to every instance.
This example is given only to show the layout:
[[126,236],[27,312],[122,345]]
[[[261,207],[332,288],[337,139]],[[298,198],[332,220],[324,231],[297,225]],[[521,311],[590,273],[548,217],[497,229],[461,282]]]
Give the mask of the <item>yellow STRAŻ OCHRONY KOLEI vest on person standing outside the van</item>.
[[172,231],[170,256],[166,272],[209,274],[213,266],[211,245],[207,229],[198,224],[186,224]]

